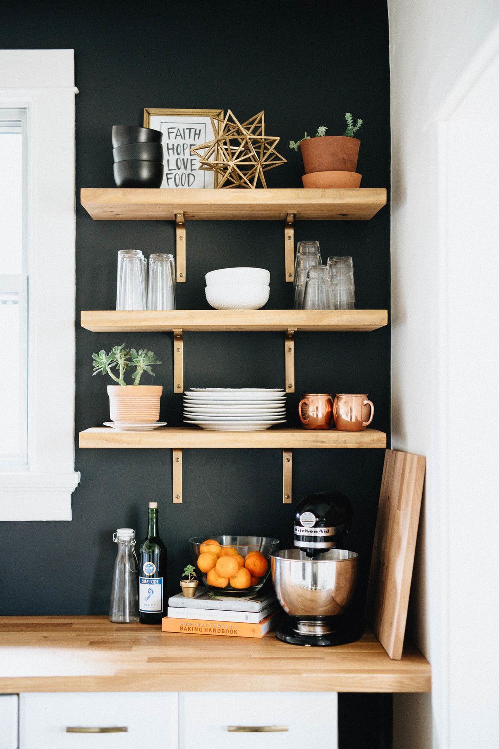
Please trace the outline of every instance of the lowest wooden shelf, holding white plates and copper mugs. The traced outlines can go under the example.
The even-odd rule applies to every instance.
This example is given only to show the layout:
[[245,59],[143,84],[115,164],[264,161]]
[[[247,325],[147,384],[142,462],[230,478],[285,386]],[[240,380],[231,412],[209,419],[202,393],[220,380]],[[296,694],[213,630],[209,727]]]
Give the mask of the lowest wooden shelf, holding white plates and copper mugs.
[[271,428],[266,431],[205,431],[199,427],[162,427],[153,431],[116,431],[92,427],[79,434],[79,446],[90,448],[163,449],[371,449],[386,447],[386,434],[365,431],[308,431]]

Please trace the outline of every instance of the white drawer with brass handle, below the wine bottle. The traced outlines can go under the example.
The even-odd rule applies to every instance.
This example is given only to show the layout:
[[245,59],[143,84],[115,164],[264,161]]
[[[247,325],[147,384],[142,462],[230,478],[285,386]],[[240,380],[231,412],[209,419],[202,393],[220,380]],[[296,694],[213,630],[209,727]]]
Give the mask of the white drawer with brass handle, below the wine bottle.
[[[21,694],[20,749],[177,749],[177,692]],[[126,728],[68,733],[67,728]]]

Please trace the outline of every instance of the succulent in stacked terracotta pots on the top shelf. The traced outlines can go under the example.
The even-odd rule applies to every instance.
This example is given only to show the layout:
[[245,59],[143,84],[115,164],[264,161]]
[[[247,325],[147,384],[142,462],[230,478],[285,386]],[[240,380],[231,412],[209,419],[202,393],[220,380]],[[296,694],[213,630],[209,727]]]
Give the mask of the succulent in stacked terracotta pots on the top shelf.
[[328,128],[321,125],[311,138],[290,141],[293,151],[301,149],[305,168],[304,187],[359,187],[362,175],[357,169],[358,149],[361,142],[355,138],[362,120],[354,125],[350,112],[345,115],[346,130],[343,136],[326,136]]

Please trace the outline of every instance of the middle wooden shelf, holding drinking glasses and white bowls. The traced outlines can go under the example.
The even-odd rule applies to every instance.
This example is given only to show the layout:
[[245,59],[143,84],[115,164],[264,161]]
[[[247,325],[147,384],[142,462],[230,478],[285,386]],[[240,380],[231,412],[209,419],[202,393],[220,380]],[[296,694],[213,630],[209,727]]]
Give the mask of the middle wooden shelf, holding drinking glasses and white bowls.
[[167,309],[82,310],[82,327],[93,333],[171,333],[173,330],[376,330],[388,324],[386,309]]

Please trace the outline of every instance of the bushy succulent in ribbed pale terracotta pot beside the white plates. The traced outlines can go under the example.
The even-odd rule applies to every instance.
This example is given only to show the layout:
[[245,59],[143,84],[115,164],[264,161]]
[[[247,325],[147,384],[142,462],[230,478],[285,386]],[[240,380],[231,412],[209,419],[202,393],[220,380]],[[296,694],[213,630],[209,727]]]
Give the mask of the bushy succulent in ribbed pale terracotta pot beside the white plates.
[[[94,375],[99,372],[109,375],[116,385],[108,385],[109,410],[111,421],[114,422],[144,422],[154,423],[159,419],[159,399],[163,388],[156,385],[139,385],[144,372],[153,375],[153,365],[161,364],[153,351],[145,348],[127,349],[125,344],[113,346],[108,354],[104,349],[98,354],[92,354],[94,359]],[[135,367],[132,372],[133,386],[126,385],[124,380],[128,369]],[[117,372],[113,372],[117,370]]]

